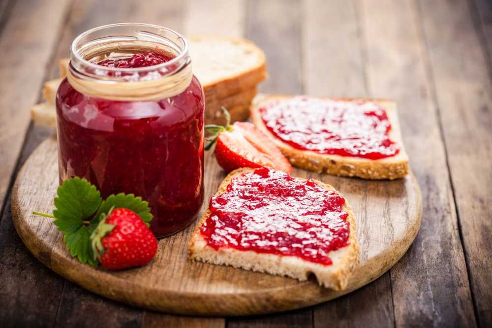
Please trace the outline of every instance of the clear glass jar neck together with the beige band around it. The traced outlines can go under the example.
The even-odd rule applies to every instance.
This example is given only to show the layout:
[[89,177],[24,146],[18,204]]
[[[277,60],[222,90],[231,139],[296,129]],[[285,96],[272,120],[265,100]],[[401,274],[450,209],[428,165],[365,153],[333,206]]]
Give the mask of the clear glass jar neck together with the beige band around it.
[[[172,59],[142,67],[97,65],[148,50]],[[181,34],[158,25],[121,23],[94,28],[72,42],[68,82],[94,98],[139,101],[170,98],[189,86],[193,73],[188,43]]]

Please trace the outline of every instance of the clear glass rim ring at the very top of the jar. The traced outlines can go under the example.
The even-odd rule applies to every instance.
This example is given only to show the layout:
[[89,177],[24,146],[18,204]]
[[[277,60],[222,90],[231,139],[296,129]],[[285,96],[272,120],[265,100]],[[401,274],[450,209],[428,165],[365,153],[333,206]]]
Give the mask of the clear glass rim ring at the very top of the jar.
[[[80,53],[79,53],[80,43],[83,40],[83,38],[86,37],[87,35],[89,35],[91,33],[96,33],[96,32],[101,31],[101,30],[106,30],[106,29],[111,29],[111,28],[118,28],[118,27],[130,27],[130,26],[141,27],[141,28],[150,28],[150,29],[155,29],[155,30],[157,30],[159,32],[168,32],[168,33],[174,34],[174,36],[178,40],[180,40],[183,44],[182,44],[182,46],[180,46],[179,44],[176,44],[175,42],[173,42],[177,47],[180,48],[180,51],[170,61],[167,61],[167,62],[161,63],[161,64],[157,64],[157,65],[153,65],[153,66],[145,66],[145,67],[131,67],[131,68],[127,68],[127,67],[107,67],[107,66],[101,66],[101,65],[98,65],[96,63],[90,62],[89,60],[83,58],[80,55]],[[169,40],[168,38],[166,38],[163,35],[159,35],[157,33],[150,32],[150,31],[139,31],[139,30],[135,30],[133,33],[134,34],[146,35],[148,37],[154,37],[155,39],[163,38],[163,39]],[[120,36],[119,35],[108,35],[108,37],[120,37]],[[121,37],[130,37],[130,38],[133,38],[133,39],[136,38],[135,36],[130,36],[130,35],[123,35]],[[96,38],[96,39],[93,39],[91,41],[95,41],[95,40],[98,40],[98,39],[100,40],[100,39],[103,39],[103,38]],[[94,70],[136,73],[136,72],[146,72],[146,71],[160,70],[160,69],[163,69],[163,68],[175,66],[177,64],[179,65],[179,63],[181,61],[183,61],[184,59],[187,59],[187,57],[188,57],[188,41],[180,33],[176,32],[174,30],[171,30],[169,28],[160,26],[160,25],[147,24],[147,23],[116,23],[116,24],[107,24],[107,25],[98,26],[98,27],[95,27],[93,29],[90,29],[90,30],[88,30],[88,31],[86,31],[84,33],[79,34],[73,40],[73,42],[71,44],[71,47],[70,47],[70,52],[71,52],[71,57],[72,58],[74,58],[76,61],[81,62],[84,66],[90,67],[90,68],[92,68]]]

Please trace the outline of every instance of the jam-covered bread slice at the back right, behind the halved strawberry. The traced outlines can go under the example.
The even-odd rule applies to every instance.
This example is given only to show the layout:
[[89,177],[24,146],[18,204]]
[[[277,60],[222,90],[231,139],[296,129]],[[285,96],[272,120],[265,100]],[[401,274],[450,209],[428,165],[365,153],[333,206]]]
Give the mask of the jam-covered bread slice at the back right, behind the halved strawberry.
[[394,101],[258,96],[250,115],[295,166],[363,179],[409,171]]

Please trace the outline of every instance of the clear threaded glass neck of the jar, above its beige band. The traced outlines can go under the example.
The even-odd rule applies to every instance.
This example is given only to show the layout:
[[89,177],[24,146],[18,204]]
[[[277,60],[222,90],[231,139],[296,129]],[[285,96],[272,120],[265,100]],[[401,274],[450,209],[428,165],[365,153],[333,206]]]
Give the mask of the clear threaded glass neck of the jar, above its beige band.
[[[127,58],[145,51],[174,58],[136,68],[97,65],[106,59]],[[158,80],[184,71],[191,78],[191,69],[187,69],[190,65],[187,41],[179,33],[157,25],[122,23],[97,27],[75,38],[68,69],[78,79],[112,84]]]

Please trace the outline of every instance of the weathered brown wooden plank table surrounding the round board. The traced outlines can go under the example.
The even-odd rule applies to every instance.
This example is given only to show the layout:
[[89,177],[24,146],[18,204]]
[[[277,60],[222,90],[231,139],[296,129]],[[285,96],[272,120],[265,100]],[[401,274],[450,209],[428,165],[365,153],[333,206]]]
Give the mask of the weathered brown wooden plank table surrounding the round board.
[[[270,72],[261,92],[397,100],[424,199],[407,254],[337,300],[225,319],[131,308],[37,261],[10,211],[17,171],[50,133],[29,106],[75,36],[126,21],[253,40]],[[0,49],[1,327],[491,327],[491,1],[0,0]]]

